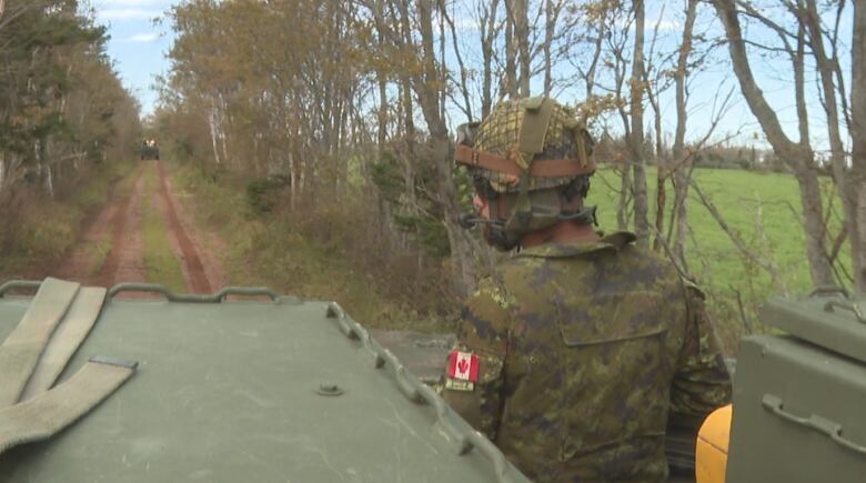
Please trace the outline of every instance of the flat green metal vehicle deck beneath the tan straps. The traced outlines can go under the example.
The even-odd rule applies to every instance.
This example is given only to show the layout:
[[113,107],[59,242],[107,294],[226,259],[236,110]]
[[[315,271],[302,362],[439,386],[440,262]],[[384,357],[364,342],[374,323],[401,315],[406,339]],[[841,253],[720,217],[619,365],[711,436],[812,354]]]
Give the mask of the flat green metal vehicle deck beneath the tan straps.
[[[30,300],[0,296],[0,340]],[[0,481],[526,481],[338,305],[198,302],[107,302],[61,381],[94,354],[138,374]]]

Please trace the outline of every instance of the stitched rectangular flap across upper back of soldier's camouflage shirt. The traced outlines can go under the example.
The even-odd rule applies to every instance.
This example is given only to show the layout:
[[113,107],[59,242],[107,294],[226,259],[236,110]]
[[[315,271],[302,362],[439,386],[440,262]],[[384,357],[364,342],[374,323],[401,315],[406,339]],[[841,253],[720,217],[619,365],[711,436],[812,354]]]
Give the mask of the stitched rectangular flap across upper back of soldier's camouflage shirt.
[[667,332],[659,315],[664,303],[653,292],[581,298],[557,306],[556,321],[570,348],[643,339]]

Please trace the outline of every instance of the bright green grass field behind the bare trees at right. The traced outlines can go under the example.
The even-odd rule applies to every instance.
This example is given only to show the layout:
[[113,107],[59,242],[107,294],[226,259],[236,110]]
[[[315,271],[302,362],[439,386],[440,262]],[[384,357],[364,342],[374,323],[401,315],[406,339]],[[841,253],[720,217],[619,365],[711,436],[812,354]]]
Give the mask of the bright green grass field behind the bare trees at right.
[[[655,171],[647,173],[647,178],[652,219],[652,213],[655,213]],[[804,293],[812,288],[802,228],[799,189],[792,175],[697,169],[694,179],[749,248],[778,265],[789,293]],[[825,181],[826,199],[829,200],[833,187],[829,180]],[[601,170],[588,198],[590,204],[598,205],[600,224],[608,231],[616,229],[618,183],[615,172]],[[673,199],[671,191],[668,188],[668,204]],[[838,203],[836,207],[838,211]],[[754,329],[761,330],[757,309],[767,298],[781,294],[783,288],[773,286],[769,275],[742,255],[695,193],[689,197],[688,224],[692,231],[686,249],[689,269],[709,293],[713,315],[719,325],[727,329],[725,339],[726,344],[731,345],[744,330],[737,292],[747,319],[755,324]],[[758,230],[758,227],[762,229]],[[849,268],[848,253],[846,248],[842,260]]]

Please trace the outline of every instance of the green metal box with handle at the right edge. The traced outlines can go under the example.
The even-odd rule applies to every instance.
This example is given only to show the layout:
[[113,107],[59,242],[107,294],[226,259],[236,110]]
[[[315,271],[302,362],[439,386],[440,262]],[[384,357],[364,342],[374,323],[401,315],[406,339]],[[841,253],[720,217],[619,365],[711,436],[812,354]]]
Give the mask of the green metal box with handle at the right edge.
[[771,301],[737,356],[727,482],[866,481],[866,323],[856,301]]

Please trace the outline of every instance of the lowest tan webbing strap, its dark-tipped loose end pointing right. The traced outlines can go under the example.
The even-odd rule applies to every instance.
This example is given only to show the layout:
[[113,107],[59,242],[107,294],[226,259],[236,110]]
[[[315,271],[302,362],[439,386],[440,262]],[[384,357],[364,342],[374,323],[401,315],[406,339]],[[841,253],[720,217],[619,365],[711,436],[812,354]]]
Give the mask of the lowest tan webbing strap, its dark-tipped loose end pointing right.
[[93,359],[51,391],[0,410],[0,454],[19,444],[51,437],[95,407],[133,372],[134,363],[119,365]]

